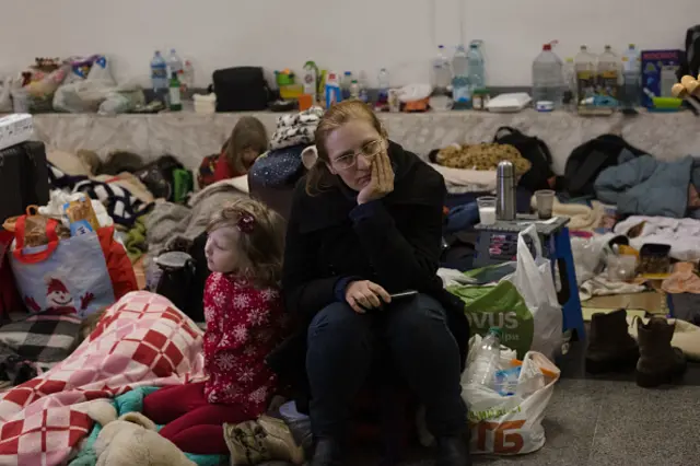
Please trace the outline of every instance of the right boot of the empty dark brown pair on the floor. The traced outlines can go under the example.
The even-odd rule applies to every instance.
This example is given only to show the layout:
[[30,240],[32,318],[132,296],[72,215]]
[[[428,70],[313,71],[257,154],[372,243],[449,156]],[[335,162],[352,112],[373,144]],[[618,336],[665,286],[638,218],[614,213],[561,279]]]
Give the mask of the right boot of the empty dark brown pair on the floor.
[[686,357],[678,348],[670,346],[676,324],[663,317],[652,317],[644,324],[637,321],[639,338],[639,361],[637,362],[637,385],[645,388],[672,383],[686,372]]

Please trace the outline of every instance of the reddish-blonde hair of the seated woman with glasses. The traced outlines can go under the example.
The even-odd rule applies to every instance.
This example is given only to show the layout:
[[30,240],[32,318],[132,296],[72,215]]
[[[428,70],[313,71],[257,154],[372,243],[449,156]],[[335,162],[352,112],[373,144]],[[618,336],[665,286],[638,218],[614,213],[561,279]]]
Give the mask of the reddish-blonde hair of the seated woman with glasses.
[[340,128],[352,119],[363,119],[380,133],[382,138],[387,138],[384,126],[376,117],[372,108],[361,101],[343,101],[328,108],[320,117],[316,127],[315,140],[318,160],[306,175],[306,194],[318,195],[334,186],[336,177],[328,171],[330,163],[326,141],[332,131]]

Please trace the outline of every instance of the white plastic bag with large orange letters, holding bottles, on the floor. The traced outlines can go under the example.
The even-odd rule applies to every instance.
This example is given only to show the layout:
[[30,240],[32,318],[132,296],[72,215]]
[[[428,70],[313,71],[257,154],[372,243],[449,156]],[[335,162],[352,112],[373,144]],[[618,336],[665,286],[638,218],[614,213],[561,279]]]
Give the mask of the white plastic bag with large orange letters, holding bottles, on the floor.
[[[542,374],[542,369],[550,376]],[[515,395],[505,397],[481,385],[463,385],[462,397],[469,407],[471,453],[520,455],[541,448],[541,422],[559,375],[559,369],[542,353],[528,351]]]

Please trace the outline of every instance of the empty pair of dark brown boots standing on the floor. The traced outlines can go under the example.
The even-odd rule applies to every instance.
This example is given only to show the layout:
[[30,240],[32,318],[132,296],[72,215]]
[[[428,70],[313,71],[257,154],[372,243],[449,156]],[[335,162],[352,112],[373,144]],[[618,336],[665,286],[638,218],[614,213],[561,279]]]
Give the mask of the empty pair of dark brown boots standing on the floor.
[[635,319],[639,342],[628,333],[627,311],[593,314],[586,372],[602,374],[634,368],[637,385],[652,388],[673,383],[686,372],[686,358],[670,346],[675,324],[651,317],[646,324]]

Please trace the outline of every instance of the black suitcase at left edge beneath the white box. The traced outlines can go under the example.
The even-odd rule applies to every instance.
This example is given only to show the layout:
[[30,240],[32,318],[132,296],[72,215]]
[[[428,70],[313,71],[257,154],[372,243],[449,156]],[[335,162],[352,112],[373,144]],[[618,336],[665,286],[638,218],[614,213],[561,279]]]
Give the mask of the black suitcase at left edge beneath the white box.
[[26,141],[0,151],[0,224],[27,206],[48,203],[48,166],[44,142]]

